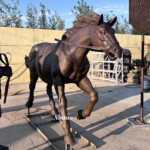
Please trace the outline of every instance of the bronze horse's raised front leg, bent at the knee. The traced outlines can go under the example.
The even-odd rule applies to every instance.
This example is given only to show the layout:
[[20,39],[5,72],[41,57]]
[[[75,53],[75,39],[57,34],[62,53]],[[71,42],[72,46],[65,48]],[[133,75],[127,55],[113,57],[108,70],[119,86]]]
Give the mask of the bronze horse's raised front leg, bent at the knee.
[[86,117],[90,116],[94,105],[98,101],[98,93],[93,88],[90,80],[87,77],[84,77],[79,83],[77,83],[79,88],[87,93],[90,97],[90,102],[85,107],[84,110],[79,110],[77,113],[77,119],[85,119]]

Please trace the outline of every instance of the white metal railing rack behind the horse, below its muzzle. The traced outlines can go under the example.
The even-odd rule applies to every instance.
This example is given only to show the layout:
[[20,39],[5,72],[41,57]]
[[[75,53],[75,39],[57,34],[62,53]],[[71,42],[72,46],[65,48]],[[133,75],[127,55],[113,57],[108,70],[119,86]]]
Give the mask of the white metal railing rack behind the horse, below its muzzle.
[[104,58],[104,55],[105,53],[92,53],[92,79],[123,83],[123,55],[115,61]]

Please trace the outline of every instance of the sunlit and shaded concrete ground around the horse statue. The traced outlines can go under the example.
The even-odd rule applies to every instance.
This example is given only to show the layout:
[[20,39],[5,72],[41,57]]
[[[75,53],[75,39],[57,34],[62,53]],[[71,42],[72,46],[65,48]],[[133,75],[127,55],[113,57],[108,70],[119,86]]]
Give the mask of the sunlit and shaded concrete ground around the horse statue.
[[[76,85],[66,85],[68,115],[73,116],[71,126],[100,150],[149,150],[150,127],[135,128],[126,121],[128,117],[140,116],[140,86],[116,85],[101,80],[91,81],[99,93],[99,101],[91,116],[85,120],[77,120],[76,113],[88,104],[88,96]],[[20,89],[21,92],[13,95]],[[45,83],[37,83],[32,114],[50,109],[45,89]],[[11,96],[8,96],[7,104],[1,103],[3,114],[0,119],[0,145],[9,146],[10,150],[50,149],[43,138],[24,119],[27,114],[25,103],[29,94],[28,84],[13,84],[10,86],[9,93]],[[55,92],[54,98],[58,107]],[[144,116],[150,117],[150,93],[144,94],[144,101]]]

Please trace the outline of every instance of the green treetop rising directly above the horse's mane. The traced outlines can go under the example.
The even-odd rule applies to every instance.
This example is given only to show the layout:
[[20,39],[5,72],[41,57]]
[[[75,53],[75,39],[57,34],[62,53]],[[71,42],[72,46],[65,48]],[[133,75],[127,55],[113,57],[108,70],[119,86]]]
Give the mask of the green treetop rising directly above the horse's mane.
[[74,9],[71,12],[75,15],[76,19],[77,16],[85,16],[89,15],[89,12],[93,10],[93,6],[87,5],[84,0],[80,0],[77,2],[77,6],[74,6]]

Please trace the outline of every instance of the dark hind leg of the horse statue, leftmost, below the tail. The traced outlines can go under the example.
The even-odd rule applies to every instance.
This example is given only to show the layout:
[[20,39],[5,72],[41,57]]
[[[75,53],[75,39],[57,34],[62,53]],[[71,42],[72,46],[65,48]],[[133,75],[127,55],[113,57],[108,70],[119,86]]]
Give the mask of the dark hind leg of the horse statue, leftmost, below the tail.
[[34,101],[34,89],[36,86],[36,81],[38,80],[38,75],[36,72],[34,71],[30,71],[30,84],[29,84],[29,99],[26,103],[26,107],[30,108],[33,105],[33,101]]

